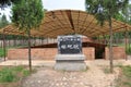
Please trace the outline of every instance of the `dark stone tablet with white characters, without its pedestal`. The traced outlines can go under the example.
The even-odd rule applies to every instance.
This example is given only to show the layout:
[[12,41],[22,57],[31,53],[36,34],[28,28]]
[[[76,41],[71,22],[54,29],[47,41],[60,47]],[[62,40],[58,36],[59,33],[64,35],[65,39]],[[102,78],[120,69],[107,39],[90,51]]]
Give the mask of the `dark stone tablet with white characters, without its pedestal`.
[[59,36],[58,52],[60,54],[80,54],[82,53],[82,40],[78,36]]

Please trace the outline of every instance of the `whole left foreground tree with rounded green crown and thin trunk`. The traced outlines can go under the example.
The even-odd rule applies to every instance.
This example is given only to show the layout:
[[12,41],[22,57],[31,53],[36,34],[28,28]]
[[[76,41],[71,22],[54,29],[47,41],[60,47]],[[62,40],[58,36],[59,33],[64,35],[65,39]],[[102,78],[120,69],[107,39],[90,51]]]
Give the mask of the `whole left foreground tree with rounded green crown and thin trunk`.
[[12,22],[28,35],[28,61],[32,71],[31,29],[37,28],[44,17],[41,0],[22,0],[12,8]]

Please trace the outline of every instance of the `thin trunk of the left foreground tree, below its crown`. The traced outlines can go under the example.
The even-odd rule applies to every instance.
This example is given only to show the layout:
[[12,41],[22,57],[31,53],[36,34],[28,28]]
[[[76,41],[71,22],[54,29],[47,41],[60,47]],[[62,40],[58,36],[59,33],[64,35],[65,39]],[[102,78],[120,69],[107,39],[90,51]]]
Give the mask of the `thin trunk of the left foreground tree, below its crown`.
[[32,72],[32,57],[31,57],[31,32],[27,29],[28,35],[28,64],[29,64],[29,72]]

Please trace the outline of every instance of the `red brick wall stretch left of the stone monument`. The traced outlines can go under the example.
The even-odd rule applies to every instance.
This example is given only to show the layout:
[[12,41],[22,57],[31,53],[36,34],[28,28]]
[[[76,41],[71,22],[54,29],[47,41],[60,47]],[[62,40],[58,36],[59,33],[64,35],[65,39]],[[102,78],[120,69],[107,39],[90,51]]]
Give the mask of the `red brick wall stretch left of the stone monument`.
[[[32,49],[32,59],[33,60],[52,60],[57,54],[56,48],[41,48]],[[28,58],[28,50],[27,49],[10,49],[8,51],[8,59],[9,60],[26,60]]]

